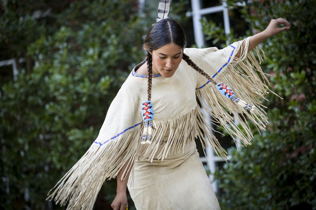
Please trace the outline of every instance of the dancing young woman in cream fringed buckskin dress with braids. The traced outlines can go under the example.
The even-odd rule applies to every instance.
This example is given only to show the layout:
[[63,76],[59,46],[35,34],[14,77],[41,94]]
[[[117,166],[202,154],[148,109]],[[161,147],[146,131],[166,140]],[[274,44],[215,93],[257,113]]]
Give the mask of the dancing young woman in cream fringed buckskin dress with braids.
[[195,138],[226,158],[214,125],[244,145],[252,139],[246,117],[265,128],[259,99],[269,81],[250,51],[261,61],[255,47],[289,28],[287,20],[271,20],[263,32],[218,50],[185,48],[175,20],[156,22],[144,41],[146,60],[131,71],[97,139],[49,198],[69,201],[67,209],[92,209],[102,183],[118,177],[114,210],[126,209],[127,186],[137,209],[220,209]]

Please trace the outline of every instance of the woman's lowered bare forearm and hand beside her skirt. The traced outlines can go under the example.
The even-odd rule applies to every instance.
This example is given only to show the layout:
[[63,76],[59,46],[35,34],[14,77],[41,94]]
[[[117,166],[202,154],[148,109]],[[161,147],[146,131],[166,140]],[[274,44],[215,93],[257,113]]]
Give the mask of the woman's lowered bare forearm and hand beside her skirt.
[[[127,164],[128,164],[128,161],[124,164],[121,170],[119,170],[119,173],[116,177],[117,179],[116,196],[114,198],[114,201],[111,204],[111,207],[114,210],[126,210],[126,205],[127,205],[126,187],[127,187],[128,178],[131,173],[130,166],[134,163],[131,162],[128,166]],[[127,167],[128,172],[126,174],[125,179],[121,180],[122,174],[126,167]]]

